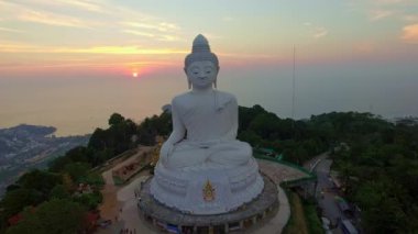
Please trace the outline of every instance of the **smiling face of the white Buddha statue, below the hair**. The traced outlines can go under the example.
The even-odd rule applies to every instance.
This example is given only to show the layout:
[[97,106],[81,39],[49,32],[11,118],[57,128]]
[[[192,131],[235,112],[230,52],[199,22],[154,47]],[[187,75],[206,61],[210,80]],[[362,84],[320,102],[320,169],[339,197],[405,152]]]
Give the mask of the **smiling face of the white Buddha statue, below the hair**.
[[194,88],[207,89],[217,79],[218,69],[212,62],[194,62],[186,68],[187,79]]

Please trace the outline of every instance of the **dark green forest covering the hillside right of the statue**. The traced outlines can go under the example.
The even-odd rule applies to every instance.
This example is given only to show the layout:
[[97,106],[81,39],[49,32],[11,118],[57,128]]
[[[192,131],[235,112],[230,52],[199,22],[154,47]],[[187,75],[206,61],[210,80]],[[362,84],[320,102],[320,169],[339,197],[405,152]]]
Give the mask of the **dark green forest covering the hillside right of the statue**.
[[332,112],[293,121],[279,119],[260,105],[240,107],[238,138],[253,147],[274,148],[285,160],[299,165],[340,146],[333,156],[334,166],[346,198],[363,211],[364,230],[367,233],[417,230],[417,124],[393,124],[358,112]]

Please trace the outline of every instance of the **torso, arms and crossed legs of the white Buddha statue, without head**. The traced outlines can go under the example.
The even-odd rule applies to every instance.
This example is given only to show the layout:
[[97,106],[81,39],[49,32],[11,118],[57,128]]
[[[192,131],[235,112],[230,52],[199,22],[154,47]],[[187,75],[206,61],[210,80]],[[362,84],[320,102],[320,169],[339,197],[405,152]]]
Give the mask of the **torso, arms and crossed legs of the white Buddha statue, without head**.
[[[172,101],[174,143],[167,168],[238,166],[249,161],[252,148],[237,140],[238,104],[234,96],[217,90],[189,91]],[[164,147],[163,147],[164,148]]]

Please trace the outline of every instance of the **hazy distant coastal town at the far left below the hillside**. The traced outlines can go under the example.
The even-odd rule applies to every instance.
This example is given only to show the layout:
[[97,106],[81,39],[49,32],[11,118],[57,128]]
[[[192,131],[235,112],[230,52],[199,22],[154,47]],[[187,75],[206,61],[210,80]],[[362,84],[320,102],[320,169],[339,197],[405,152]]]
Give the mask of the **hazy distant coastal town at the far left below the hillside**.
[[0,129],[0,198],[20,175],[43,168],[47,163],[78,145],[90,135],[56,137],[56,127],[21,124]]

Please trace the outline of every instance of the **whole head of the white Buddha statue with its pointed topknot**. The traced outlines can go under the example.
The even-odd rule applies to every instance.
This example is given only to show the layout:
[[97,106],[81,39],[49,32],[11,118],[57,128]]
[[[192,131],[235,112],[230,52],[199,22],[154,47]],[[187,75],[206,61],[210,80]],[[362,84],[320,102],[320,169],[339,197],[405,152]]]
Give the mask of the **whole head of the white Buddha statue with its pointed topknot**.
[[208,40],[199,34],[193,42],[191,54],[186,56],[185,71],[189,88],[207,89],[217,87],[219,62],[216,54],[210,52]]

